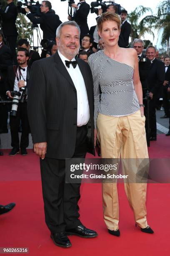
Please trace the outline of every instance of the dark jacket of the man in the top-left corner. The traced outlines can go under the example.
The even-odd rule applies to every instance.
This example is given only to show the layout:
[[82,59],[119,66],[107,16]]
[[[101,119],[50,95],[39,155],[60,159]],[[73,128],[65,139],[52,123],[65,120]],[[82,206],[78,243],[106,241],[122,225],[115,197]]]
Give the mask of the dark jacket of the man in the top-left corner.
[[4,36],[17,36],[17,28],[15,26],[16,18],[17,18],[17,7],[12,2],[9,5],[9,9],[7,10],[7,13],[5,13],[5,10],[0,9],[0,15],[2,16],[2,30],[4,33]]

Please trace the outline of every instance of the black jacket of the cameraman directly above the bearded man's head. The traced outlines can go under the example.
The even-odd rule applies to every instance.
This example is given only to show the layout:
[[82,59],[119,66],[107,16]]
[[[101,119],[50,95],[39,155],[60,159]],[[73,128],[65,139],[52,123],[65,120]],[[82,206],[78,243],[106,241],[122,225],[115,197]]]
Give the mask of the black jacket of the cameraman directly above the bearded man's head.
[[[87,25],[87,16],[90,12],[90,5],[88,5],[86,2],[83,2],[79,9],[76,10],[73,19],[77,24],[80,26],[81,35],[85,35],[89,33],[89,27]],[[81,36],[81,37],[82,37]]]

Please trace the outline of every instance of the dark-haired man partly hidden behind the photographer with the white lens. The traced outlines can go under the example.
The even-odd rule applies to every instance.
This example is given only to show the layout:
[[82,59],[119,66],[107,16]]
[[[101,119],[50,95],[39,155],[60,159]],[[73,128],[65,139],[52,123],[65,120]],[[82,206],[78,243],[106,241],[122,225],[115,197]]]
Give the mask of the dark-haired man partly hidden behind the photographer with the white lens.
[[28,66],[31,67],[32,63],[40,59],[40,54],[37,51],[30,50],[30,44],[26,39],[20,39],[18,41],[18,47],[25,48],[29,52]]

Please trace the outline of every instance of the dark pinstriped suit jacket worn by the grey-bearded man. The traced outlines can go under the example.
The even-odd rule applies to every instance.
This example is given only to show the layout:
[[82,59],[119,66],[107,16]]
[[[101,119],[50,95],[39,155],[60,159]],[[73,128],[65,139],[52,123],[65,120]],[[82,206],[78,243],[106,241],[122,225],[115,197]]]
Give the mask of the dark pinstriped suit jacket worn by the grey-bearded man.
[[[94,96],[89,65],[77,59],[90,108],[91,151],[94,152]],[[46,157],[71,158],[77,134],[77,92],[58,53],[35,61],[28,83],[28,118],[33,143],[47,142]]]

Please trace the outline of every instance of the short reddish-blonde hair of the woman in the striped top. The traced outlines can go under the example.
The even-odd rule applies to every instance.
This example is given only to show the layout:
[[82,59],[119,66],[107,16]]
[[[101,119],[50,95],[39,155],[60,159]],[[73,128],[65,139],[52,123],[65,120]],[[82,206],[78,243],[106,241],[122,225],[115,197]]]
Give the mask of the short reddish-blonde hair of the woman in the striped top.
[[120,17],[116,13],[106,12],[103,13],[97,20],[98,31],[102,31],[102,24],[105,21],[115,21],[117,23],[118,30],[120,31]]

